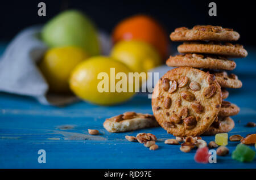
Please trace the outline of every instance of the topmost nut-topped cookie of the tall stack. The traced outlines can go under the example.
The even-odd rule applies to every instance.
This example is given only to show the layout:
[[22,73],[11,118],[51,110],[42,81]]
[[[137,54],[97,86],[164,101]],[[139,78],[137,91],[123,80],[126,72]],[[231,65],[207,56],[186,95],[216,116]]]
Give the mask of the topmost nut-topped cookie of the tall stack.
[[237,41],[238,32],[230,28],[213,25],[195,25],[192,29],[186,27],[176,28],[171,33],[172,41]]

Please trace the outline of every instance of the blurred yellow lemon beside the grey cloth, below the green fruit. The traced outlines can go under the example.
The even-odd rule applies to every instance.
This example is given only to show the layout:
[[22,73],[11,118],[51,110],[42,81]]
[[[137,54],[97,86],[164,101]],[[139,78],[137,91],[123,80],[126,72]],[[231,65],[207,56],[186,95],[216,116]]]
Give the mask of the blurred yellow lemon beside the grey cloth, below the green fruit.
[[69,76],[77,64],[88,58],[84,50],[75,46],[52,48],[44,54],[39,68],[49,84],[49,91],[69,92]]

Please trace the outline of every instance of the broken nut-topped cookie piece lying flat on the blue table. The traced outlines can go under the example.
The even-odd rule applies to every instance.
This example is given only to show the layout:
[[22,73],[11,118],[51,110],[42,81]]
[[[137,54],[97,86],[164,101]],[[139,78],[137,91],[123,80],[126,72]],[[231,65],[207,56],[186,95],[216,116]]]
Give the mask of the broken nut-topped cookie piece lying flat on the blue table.
[[126,132],[146,127],[156,127],[159,124],[154,115],[126,112],[107,118],[103,126],[109,132]]

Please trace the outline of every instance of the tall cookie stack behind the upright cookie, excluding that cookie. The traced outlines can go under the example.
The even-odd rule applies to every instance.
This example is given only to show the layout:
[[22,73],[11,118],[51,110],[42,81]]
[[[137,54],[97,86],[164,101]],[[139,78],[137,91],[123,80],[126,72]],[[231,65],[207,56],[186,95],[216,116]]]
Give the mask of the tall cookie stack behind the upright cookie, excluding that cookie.
[[230,116],[240,112],[237,105],[224,101],[229,92],[225,88],[241,88],[242,82],[237,75],[228,74],[226,70],[234,70],[236,62],[229,58],[242,58],[247,56],[247,51],[242,45],[232,44],[230,41],[237,41],[239,33],[233,29],[222,28],[212,25],[196,25],[192,29],[185,27],[177,28],[170,35],[172,41],[184,41],[179,45],[179,53],[174,57],[170,56],[166,64],[173,67],[193,67],[214,74],[221,86],[222,105],[215,121],[204,135],[229,132],[234,127],[234,121]]

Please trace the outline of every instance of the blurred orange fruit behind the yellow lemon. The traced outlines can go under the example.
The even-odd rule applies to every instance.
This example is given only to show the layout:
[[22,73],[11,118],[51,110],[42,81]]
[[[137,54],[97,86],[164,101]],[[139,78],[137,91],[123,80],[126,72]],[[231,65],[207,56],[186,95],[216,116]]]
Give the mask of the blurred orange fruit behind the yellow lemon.
[[141,40],[158,50],[162,58],[168,55],[168,35],[164,28],[147,15],[135,15],[122,20],[114,28],[113,42],[120,40]]

